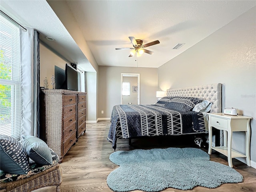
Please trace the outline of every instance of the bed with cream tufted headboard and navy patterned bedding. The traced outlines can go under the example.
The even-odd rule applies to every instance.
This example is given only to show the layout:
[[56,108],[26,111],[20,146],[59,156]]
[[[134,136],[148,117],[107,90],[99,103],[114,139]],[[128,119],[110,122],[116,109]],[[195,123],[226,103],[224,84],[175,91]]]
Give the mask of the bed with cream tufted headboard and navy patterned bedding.
[[207,112],[222,110],[222,84],[166,90],[154,105],[113,107],[107,140],[116,150],[118,139],[208,132]]

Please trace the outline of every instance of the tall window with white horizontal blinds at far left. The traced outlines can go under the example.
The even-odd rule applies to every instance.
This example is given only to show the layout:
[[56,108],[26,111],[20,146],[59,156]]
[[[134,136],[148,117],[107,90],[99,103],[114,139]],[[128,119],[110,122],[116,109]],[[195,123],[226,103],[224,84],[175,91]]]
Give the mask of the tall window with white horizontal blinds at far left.
[[20,32],[0,14],[0,134],[20,140]]

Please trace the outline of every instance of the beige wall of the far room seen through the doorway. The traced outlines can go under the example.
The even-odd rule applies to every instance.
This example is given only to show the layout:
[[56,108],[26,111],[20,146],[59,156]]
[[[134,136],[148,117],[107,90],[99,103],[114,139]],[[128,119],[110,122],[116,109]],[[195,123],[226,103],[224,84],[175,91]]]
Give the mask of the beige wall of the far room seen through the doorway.
[[130,82],[130,96],[122,96],[122,104],[138,104],[138,92],[132,92],[132,86],[137,86],[138,77],[123,77],[123,82]]

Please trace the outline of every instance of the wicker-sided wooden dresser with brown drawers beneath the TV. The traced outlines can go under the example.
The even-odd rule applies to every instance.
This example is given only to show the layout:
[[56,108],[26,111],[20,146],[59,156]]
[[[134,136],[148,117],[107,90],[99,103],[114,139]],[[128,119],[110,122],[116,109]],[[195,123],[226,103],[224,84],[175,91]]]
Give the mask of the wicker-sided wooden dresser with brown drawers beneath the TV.
[[62,162],[86,130],[86,93],[48,89],[42,90],[40,97],[40,138]]

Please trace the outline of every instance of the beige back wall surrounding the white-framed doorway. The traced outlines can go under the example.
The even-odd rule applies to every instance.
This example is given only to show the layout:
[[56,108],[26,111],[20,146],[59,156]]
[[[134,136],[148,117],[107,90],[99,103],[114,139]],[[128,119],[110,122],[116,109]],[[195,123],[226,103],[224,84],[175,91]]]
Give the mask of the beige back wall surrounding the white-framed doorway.
[[121,103],[121,73],[139,73],[140,104],[156,103],[157,68],[99,66],[98,118],[110,118],[113,106]]

